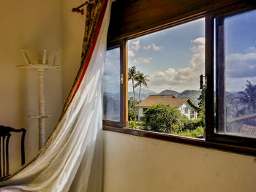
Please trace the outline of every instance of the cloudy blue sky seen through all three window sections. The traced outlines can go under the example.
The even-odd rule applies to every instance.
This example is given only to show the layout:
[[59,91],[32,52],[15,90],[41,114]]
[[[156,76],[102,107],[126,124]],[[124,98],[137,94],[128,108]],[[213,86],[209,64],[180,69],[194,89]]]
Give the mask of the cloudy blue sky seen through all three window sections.
[[[105,91],[112,93],[119,91],[118,54],[118,48],[108,50],[105,59]],[[246,80],[256,84],[256,11],[225,19],[225,64],[226,91],[243,91]],[[128,66],[148,75],[151,91],[199,90],[205,72],[205,18],[129,40]]]

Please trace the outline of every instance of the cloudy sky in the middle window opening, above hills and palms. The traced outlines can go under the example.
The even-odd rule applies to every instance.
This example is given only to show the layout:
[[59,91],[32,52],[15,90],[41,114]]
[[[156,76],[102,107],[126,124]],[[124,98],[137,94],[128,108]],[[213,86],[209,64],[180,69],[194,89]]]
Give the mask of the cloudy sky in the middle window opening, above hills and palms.
[[[128,41],[128,66],[148,75],[148,89],[199,89],[204,74],[205,19]],[[129,91],[132,90],[129,82]]]

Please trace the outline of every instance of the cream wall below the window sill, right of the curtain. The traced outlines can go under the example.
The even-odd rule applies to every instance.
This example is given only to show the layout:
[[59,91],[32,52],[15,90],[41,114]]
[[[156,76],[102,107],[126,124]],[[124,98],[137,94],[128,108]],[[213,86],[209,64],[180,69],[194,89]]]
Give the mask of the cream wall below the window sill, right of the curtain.
[[255,191],[256,158],[105,132],[105,192]]

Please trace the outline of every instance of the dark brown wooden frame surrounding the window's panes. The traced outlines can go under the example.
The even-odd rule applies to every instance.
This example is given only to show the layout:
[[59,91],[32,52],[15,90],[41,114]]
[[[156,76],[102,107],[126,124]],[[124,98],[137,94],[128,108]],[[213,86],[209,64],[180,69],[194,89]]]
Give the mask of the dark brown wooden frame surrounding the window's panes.
[[[178,142],[185,145],[195,145],[200,147],[210,147],[218,150],[225,150],[233,153],[241,153],[246,155],[256,155],[255,139],[247,139],[243,137],[230,137],[228,135],[215,134],[215,117],[214,117],[214,17],[218,15],[225,16],[227,14],[233,14],[235,12],[241,12],[255,8],[255,3],[240,2],[228,5],[226,7],[217,7],[214,10],[208,10],[184,17],[183,19],[174,20],[171,23],[147,29],[144,32],[135,34],[129,34],[124,37],[118,37],[116,40],[108,42],[108,49],[120,46],[120,58],[121,58],[121,73],[124,74],[124,86],[121,88],[121,121],[119,123],[103,120],[103,129],[106,131],[115,131],[123,134],[132,134],[140,137],[148,137],[154,139],[162,139],[170,142]],[[160,31],[165,28],[178,26],[189,21],[196,20],[198,18],[206,18],[206,139],[197,139],[190,137],[180,137],[171,134],[162,134],[153,131],[143,131],[128,128],[128,62],[127,62],[127,40],[134,39],[146,34]],[[178,17],[180,18],[180,17]],[[122,94],[123,93],[123,94]],[[249,142],[248,142],[249,141]]]

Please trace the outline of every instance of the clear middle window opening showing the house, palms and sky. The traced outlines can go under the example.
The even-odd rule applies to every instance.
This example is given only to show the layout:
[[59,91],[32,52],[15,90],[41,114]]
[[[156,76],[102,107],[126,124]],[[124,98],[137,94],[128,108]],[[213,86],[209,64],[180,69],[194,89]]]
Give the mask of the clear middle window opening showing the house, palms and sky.
[[128,41],[129,128],[204,137],[205,19]]

